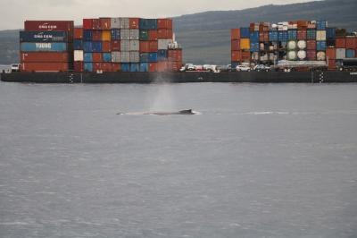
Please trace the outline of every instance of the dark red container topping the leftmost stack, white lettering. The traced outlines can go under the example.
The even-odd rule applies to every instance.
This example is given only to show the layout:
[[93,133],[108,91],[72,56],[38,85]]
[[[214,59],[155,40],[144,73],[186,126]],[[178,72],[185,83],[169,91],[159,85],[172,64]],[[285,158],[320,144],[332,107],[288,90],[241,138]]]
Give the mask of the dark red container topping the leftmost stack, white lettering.
[[73,21],[25,21],[25,30],[40,31],[72,31]]

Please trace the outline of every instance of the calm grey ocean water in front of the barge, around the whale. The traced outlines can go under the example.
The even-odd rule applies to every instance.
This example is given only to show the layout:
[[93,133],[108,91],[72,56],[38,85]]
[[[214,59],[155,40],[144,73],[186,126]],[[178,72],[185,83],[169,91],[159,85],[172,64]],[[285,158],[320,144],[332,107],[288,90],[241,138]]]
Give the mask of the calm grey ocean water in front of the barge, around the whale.
[[357,237],[357,84],[1,82],[0,237]]

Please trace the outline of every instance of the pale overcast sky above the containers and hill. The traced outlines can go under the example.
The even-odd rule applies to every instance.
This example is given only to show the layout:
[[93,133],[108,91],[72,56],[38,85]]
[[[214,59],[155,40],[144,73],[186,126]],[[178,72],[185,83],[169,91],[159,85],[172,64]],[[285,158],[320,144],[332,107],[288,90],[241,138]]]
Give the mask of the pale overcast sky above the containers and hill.
[[311,0],[0,0],[0,30],[23,28],[25,20],[73,20],[137,16],[167,17],[212,10],[239,10],[265,4]]

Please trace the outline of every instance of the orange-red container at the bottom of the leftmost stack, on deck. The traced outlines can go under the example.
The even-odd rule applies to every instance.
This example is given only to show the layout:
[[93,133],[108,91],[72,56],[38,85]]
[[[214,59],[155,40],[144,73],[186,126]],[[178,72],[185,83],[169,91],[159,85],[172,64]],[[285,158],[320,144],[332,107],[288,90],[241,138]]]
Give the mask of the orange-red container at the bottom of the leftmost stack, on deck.
[[69,71],[68,63],[22,63],[21,72],[67,72]]

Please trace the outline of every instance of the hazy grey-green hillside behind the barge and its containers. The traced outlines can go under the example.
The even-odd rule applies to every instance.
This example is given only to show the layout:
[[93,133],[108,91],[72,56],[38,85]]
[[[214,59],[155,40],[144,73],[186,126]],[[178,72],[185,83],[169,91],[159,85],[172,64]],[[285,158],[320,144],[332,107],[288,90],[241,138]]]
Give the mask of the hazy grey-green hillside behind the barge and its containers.
[[[303,4],[265,5],[238,11],[212,11],[174,18],[184,59],[195,64],[228,64],[230,29],[252,21],[328,20],[329,26],[357,29],[356,0],[326,0]],[[0,64],[18,62],[18,30],[0,31]]]

